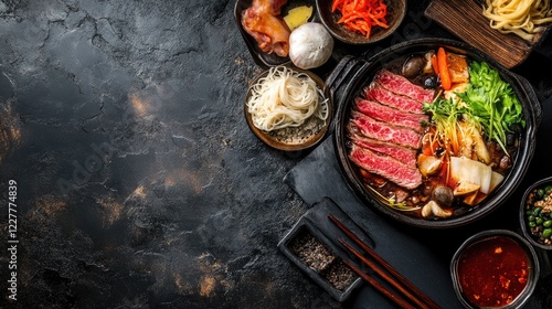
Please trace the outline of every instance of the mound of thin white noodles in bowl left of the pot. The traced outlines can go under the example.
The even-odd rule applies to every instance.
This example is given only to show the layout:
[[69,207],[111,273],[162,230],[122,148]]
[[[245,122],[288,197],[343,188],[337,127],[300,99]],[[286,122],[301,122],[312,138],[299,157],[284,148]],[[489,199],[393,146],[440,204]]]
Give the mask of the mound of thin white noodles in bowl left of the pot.
[[326,121],[328,99],[307,74],[275,66],[252,86],[247,111],[253,125],[265,131],[299,127],[309,117]]

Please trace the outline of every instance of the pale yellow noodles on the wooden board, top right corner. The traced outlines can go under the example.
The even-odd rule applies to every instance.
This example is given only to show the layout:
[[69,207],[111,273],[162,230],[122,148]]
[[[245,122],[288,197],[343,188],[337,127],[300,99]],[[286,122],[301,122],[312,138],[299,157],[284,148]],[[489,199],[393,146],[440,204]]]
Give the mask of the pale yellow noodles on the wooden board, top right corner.
[[502,33],[514,33],[526,41],[544,31],[544,23],[552,22],[550,0],[486,0],[482,14],[490,26]]

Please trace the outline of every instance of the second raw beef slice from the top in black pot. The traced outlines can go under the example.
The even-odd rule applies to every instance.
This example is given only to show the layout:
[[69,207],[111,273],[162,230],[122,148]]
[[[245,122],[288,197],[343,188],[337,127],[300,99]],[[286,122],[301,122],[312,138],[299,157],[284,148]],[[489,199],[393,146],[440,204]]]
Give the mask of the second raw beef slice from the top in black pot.
[[378,83],[371,83],[364,89],[364,96],[368,99],[376,100],[383,105],[397,108],[414,114],[424,114],[422,108],[424,104],[402,95],[397,95]]

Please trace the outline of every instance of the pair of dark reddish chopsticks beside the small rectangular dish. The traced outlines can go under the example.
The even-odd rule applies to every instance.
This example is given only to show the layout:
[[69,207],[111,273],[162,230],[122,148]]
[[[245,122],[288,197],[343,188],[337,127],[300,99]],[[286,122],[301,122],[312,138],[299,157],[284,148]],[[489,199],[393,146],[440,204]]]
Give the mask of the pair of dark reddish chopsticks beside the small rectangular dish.
[[408,279],[402,276],[393,266],[385,262],[380,255],[378,255],[372,248],[364,244],[354,233],[352,233],[347,226],[344,226],[339,220],[333,215],[328,215],[328,219],[336,224],[349,238],[351,238],[357,245],[359,245],[374,262],[367,258],[360,252],[354,249],[352,246],[347,244],[343,239],[339,239],[341,245],[357,256],[362,263],[372,268],[380,277],[382,277],[388,284],[399,290],[408,301],[404,300],[401,296],[388,289],[385,286],[376,281],[374,278],[364,274],[357,266],[343,259],[343,263],[349,266],[354,273],[357,273],[362,279],[369,283],[376,290],[382,292],[384,296],[393,300],[396,305],[402,308],[427,308],[437,309],[440,308],[435,301],[433,301],[426,294],[424,294],[420,288],[414,286]]

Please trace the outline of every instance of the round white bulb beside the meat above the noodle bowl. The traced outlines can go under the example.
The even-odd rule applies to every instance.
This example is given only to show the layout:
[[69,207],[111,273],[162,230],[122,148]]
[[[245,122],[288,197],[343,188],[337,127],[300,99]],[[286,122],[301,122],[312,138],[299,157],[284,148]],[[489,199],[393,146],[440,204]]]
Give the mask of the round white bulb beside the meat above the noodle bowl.
[[325,64],[333,51],[333,38],[321,23],[307,22],[289,35],[289,58],[299,68]]

